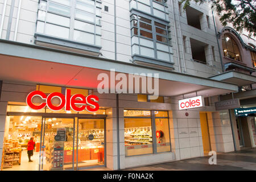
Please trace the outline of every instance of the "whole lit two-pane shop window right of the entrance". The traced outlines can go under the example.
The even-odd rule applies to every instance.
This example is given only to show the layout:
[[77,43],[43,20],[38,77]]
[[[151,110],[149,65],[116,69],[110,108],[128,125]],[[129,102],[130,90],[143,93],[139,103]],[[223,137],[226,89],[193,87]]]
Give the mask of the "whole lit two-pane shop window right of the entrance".
[[171,151],[168,111],[123,110],[123,115],[126,156]]

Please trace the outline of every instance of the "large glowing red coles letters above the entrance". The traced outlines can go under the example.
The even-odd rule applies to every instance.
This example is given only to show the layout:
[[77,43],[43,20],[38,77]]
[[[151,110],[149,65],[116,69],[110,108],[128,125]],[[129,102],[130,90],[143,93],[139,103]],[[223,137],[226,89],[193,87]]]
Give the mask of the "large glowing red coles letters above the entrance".
[[[32,98],[38,96],[41,97],[42,100],[45,100],[45,102],[42,102],[40,105],[34,105],[32,103]],[[53,98],[59,98],[60,100],[60,105],[55,106],[52,104],[52,99]],[[78,100],[77,100],[78,99]],[[83,96],[82,94],[75,94],[71,96],[71,90],[66,89],[65,96],[59,92],[53,92],[46,96],[45,93],[36,90],[28,94],[26,98],[27,105],[31,109],[39,110],[43,109],[46,105],[49,107],[49,109],[57,111],[63,109],[65,107],[65,110],[70,110],[73,109],[75,111],[82,111],[82,110],[87,110],[89,112],[95,112],[99,109],[98,105],[98,97],[94,95],[89,95],[87,97]]]

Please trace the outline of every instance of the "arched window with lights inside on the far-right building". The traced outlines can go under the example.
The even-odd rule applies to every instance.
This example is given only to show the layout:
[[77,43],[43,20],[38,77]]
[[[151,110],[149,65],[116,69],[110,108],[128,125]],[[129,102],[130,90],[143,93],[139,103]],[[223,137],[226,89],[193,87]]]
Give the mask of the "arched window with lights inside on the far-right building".
[[241,53],[234,39],[228,34],[224,34],[222,38],[222,48],[225,57],[242,61]]

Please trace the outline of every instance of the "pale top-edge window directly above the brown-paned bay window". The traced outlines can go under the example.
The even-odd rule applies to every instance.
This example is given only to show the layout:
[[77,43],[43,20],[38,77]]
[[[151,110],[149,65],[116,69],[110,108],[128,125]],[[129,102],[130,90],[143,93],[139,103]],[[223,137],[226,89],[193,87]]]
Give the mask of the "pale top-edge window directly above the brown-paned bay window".
[[164,0],[130,0],[130,9],[137,9],[158,18],[169,20]]

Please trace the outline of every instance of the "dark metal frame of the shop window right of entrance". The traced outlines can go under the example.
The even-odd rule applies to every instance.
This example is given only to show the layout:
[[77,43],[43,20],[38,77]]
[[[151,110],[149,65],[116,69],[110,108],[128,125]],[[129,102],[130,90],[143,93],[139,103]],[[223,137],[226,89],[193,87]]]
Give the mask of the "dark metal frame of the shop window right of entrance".
[[[147,109],[123,109],[124,110],[147,110]],[[167,117],[155,117],[155,111],[166,111],[167,112]],[[151,131],[152,131],[152,153],[150,154],[139,154],[139,155],[129,155],[127,156],[125,154],[126,158],[129,157],[133,157],[133,156],[141,156],[141,155],[151,155],[151,154],[161,154],[164,152],[157,152],[157,143],[156,143],[156,119],[168,119],[168,132],[169,132],[169,142],[170,142],[170,151],[165,151],[165,152],[172,152],[172,148],[171,148],[171,135],[170,135],[170,116],[169,116],[169,112],[168,110],[150,110],[150,116],[149,117],[129,117],[129,116],[125,116],[123,115],[123,118],[145,118],[145,119],[151,119]],[[125,121],[124,121],[125,122]],[[125,124],[125,123],[124,123]],[[125,129],[125,128],[124,128]]]

